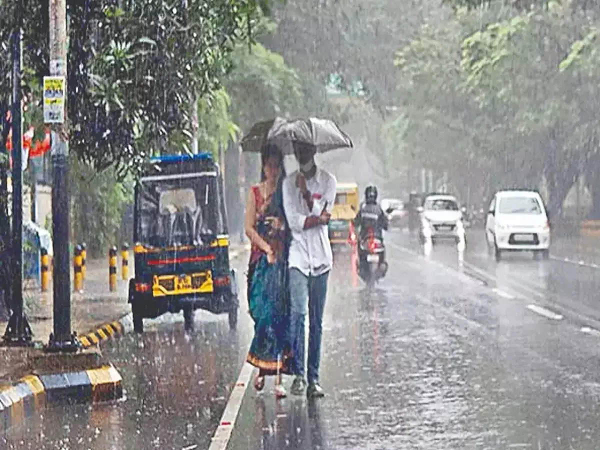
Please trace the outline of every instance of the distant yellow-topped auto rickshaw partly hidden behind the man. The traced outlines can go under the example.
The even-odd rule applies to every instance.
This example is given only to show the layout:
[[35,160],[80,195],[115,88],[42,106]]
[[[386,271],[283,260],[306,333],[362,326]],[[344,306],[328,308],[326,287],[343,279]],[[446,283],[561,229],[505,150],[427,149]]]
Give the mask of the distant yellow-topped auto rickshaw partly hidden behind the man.
[[359,208],[358,184],[338,183],[335,191],[329,220],[329,241],[332,245],[348,244],[352,238],[352,221]]

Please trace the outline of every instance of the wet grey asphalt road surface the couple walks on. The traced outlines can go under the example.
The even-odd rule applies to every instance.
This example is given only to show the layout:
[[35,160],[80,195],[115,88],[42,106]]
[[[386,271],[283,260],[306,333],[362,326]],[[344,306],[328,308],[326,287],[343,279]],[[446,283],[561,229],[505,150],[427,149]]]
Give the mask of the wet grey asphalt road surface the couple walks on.
[[[476,232],[462,262],[450,244],[419,254],[400,231],[386,243],[391,268],[374,292],[353,285],[347,255],[336,259],[328,396],[275,401],[271,382],[258,395],[250,386],[229,449],[599,448],[600,332],[581,331],[600,317],[598,269],[529,254],[496,263]],[[104,350],[125,401],[46,410],[0,448],[208,448],[250,319],[232,334],[225,316],[197,314],[187,337],[171,319]]]

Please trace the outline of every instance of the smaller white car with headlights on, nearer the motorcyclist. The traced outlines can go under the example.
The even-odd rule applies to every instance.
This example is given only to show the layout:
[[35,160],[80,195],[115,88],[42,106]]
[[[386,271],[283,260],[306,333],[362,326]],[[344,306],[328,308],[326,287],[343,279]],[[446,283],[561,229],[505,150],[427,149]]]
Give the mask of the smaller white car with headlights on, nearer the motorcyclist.
[[421,210],[421,241],[454,239],[466,241],[463,213],[458,208],[456,197],[446,194],[430,194],[425,197]]

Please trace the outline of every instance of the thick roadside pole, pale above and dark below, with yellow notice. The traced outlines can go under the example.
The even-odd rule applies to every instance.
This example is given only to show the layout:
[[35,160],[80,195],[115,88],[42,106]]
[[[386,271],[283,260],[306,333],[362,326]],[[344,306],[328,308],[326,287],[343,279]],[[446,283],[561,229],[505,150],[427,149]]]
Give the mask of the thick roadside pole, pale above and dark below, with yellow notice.
[[[64,77],[61,119],[52,122],[50,154],[53,163],[52,236],[54,239],[53,334],[46,347],[49,351],[77,350],[77,339],[71,334],[71,279],[69,254],[68,197],[68,120],[67,120],[67,0],[50,0],[50,76]],[[44,82],[44,85],[46,83]],[[46,91],[46,86],[44,86]],[[44,92],[44,95],[46,92]],[[45,100],[44,100],[45,101]],[[44,106],[45,103],[44,103]],[[60,111],[58,113],[60,116]]]

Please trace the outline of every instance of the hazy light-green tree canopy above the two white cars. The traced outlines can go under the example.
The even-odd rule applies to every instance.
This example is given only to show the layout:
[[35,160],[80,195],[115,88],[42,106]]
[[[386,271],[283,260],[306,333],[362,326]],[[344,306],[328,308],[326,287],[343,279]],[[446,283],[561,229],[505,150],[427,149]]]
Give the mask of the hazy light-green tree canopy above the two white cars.
[[463,194],[545,185],[558,211],[597,145],[595,28],[568,6],[514,12],[457,11],[397,53],[404,140]]

